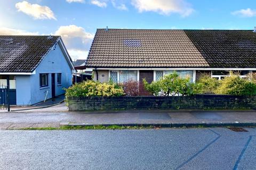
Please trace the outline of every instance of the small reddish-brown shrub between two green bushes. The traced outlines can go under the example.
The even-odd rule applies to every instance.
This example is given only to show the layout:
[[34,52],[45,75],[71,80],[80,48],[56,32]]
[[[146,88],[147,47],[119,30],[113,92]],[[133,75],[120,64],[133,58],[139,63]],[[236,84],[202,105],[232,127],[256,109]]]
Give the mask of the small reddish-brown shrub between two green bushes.
[[139,96],[139,82],[134,80],[122,84],[126,96]]

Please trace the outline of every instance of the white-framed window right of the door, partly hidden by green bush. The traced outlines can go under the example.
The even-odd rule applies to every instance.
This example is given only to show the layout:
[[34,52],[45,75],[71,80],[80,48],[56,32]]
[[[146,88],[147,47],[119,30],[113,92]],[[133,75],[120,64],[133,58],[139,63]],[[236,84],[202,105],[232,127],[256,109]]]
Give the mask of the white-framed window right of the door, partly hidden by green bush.
[[160,80],[165,75],[177,72],[181,78],[190,77],[191,82],[195,82],[195,70],[155,70],[154,71],[154,81]]

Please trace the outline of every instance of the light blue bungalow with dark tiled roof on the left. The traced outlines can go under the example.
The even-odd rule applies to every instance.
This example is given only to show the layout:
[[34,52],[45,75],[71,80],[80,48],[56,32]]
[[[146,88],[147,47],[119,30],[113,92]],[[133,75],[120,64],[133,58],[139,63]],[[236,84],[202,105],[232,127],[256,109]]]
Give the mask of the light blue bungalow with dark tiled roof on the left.
[[64,94],[73,70],[60,36],[0,36],[0,86],[9,85],[12,105]]

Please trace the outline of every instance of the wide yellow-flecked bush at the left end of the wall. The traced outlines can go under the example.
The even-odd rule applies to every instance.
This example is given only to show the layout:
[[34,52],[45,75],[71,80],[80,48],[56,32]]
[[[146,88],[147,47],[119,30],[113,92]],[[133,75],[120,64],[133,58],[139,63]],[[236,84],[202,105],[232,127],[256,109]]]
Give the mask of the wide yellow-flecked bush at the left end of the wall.
[[124,90],[113,82],[100,83],[98,81],[86,80],[76,83],[66,90],[68,97],[87,97],[87,96],[123,96]]

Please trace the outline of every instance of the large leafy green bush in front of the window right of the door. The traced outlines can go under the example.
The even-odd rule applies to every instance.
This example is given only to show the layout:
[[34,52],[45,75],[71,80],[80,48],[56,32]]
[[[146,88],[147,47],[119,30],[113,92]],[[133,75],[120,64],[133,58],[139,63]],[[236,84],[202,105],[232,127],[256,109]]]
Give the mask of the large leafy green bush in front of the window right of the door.
[[180,78],[176,72],[165,75],[164,79],[151,83],[143,79],[143,83],[145,89],[154,96],[189,96],[194,94],[194,84],[190,82],[190,78]]

